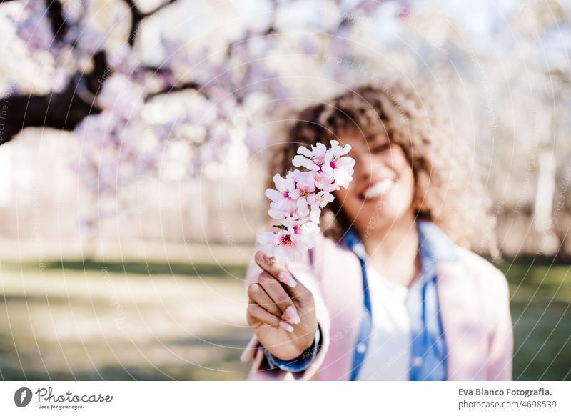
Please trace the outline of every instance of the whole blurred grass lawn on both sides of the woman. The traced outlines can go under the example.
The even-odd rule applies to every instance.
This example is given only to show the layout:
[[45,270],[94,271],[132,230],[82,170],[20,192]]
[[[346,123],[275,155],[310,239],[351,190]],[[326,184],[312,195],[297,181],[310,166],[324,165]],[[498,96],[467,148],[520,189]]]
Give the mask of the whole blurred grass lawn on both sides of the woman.
[[[515,380],[571,380],[571,273],[521,259],[507,272]],[[4,380],[243,380],[245,265],[0,263]],[[4,312],[5,311],[5,312]]]

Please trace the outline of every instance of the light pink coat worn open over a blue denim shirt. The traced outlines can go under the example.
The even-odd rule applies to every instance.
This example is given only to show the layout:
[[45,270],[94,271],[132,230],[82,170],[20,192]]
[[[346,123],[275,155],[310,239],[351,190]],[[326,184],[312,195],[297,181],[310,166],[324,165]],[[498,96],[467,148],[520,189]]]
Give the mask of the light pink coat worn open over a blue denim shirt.
[[[437,290],[447,356],[447,380],[512,380],[513,333],[505,276],[482,257],[457,247],[458,260],[440,262]],[[357,256],[320,236],[310,256],[290,271],[315,298],[323,345],[303,372],[262,368],[262,345],[253,335],[241,360],[253,360],[248,380],[349,380],[363,314]],[[252,263],[246,287],[261,268]],[[303,319],[303,317],[302,317]]]

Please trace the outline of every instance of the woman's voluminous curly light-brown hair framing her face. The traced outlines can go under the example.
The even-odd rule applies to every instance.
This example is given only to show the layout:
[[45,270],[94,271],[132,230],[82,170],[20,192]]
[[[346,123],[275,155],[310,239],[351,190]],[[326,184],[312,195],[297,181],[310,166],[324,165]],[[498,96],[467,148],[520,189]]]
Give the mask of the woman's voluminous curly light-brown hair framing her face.
[[[418,218],[435,223],[460,246],[483,247],[492,234],[490,202],[473,152],[455,137],[435,96],[428,86],[382,80],[303,109],[293,117],[287,139],[273,149],[268,187],[274,186],[274,173],[294,169],[291,161],[300,146],[327,144],[346,131],[365,139],[386,134],[402,147],[413,168]],[[338,242],[349,226],[337,200],[323,209],[320,227],[326,237]]]

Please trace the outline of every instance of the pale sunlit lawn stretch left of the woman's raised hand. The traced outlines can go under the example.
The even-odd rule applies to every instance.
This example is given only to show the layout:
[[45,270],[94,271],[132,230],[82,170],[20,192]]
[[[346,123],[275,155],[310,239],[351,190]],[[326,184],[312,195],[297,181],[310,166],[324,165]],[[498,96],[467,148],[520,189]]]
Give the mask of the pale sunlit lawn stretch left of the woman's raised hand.
[[243,266],[20,267],[1,263],[4,380],[243,380],[251,367],[238,360],[251,337]]

